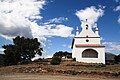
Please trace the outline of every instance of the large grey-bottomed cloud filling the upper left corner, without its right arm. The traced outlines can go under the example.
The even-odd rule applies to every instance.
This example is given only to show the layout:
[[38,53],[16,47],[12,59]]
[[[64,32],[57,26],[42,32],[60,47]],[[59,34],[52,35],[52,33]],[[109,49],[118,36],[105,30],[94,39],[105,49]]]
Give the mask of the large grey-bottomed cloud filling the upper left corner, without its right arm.
[[31,20],[42,18],[39,14],[43,5],[44,0],[1,0],[1,36],[9,39],[18,35],[32,38]]

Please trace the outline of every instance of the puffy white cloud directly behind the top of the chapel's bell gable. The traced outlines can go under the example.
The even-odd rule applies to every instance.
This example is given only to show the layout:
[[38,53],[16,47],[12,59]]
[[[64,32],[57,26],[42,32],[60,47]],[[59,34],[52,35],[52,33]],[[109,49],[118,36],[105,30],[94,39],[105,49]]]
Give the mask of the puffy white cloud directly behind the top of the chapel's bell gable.
[[98,18],[104,15],[104,10],[101,8],[96,9],[96,7],[91,6],[87,7],[84,10],[79,10],[75,14],[80,19],[82,23],[81,25],[83,25],[84,21],[87,19],[88,23],[94,27],[98,21]]

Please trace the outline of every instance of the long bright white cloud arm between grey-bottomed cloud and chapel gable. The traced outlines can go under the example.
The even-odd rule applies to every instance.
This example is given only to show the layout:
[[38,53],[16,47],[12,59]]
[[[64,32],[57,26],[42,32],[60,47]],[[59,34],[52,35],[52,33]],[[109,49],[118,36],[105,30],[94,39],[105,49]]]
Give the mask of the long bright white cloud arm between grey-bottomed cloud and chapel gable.
[[39,26],[37,23],[31,24],[32,34],[34,37],[39,38],[40,36],[50,37],[50,36],[60,36],[60,37],[73,37],[71,34],[73,31],[72,27],[65,26],[63,24],[48,24]]

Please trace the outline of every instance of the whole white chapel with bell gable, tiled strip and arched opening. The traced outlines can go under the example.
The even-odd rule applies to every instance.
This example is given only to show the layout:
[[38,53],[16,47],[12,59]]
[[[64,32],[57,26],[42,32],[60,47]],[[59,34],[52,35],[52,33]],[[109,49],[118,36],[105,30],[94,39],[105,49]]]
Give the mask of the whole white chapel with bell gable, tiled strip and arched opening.
[[93,31],[87,20],[81,27],[80,33],[76,28],[76,36],[72,41],[72,58],[78,62],[105,64],[105,46],[100,42],[98,27]]

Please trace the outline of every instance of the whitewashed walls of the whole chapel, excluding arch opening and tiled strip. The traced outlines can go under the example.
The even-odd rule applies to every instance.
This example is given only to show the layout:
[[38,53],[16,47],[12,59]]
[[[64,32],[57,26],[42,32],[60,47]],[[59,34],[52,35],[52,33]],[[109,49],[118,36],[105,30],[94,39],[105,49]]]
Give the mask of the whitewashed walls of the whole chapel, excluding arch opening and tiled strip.
[[[88,28],[86,28],[88,25]],[[77,35],[74,38],[74,44],[73,44],[73,50],[72,50],[72,57],[76,58],[76,61],[79,62],[86,62],[86,63],[103,63],[105,64],[105,48],[103,46],[98,47],[76,47],[76,44],[101,44],[100,42],[100,36],[98,28],[96,28],[96,31],[94,32],[92,30],[92,27],[89,23],[86,23],[82,25],[82,31],[78,34],[78,28],[77,28]],[[89,42],[86,42],[86,40],[89,40]],[[98,58],[82,58],[82,52],[86,49],[93,49],[98,52]]]

